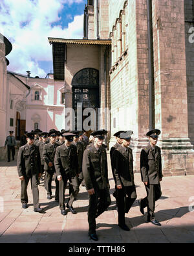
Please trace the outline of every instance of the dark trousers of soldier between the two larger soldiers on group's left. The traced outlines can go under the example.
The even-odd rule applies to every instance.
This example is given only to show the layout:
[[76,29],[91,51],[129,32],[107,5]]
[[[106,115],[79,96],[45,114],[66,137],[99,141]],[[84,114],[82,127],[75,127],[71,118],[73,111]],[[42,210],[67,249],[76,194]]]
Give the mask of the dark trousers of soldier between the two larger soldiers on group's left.
[[44,181],[44,186],[45,189],[47,190],[47,195],[48,196],[52,196],[52,176],[54,174],[54,181],[55,181],[55,199],[58,200],[59,199],[59,181],[58,181],[58,177],[56,175],[55,170],[45,170],[45,181]]

